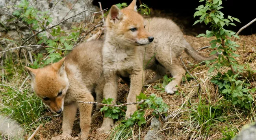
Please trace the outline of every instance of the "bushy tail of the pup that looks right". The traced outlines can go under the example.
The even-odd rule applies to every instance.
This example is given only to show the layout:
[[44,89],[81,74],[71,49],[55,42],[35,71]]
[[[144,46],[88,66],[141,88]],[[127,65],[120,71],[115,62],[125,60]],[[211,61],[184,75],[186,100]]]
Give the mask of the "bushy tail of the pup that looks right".
[[188,42],[186,42],[186,48],[185,48],[185,51],[188,55],[190,55],[193,59],[197,60],[197,61],[210,61],[210,60],[213,60],[213,59],[216,59],[216,56],[219,55],[219,53],[216,53],[216,55],[212,55],[210,57],[205,57],[205,56],[202,56],[200,55],[200,53],[198,53],[197,51],[195,51]]

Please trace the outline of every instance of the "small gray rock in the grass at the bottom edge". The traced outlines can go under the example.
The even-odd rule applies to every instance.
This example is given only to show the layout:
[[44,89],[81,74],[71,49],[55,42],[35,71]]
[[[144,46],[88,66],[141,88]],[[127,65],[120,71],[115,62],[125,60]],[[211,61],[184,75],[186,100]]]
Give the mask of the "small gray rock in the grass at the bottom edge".
[[163,136],[158,133],[161,127],[161,122],[159,122],[159,120],[156,118],[152,118],[149,131],[144,140],[163,140]]

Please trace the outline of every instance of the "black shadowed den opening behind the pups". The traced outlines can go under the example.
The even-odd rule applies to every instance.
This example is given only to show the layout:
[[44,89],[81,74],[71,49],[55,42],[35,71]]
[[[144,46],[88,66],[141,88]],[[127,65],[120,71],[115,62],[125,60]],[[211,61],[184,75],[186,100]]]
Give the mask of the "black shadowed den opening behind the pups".
[[[199,18],[193,18],[195,13],[195,8],[199,5],[204,4],[204,2],[199,2],[199,0],[175,0],[175,1],[156,1],[156,0],[140,0],[141,3],[147,4],[148,7],[154,11],[158,11],[154,14],[157,17],[167,17],[171,18],[176,22],[185,34],[188,35],[198,35],[200,33],[205,33],[209,26],[204,23],[196,24],[193,26],[194,22]],[[140,5],[140,1],[137,0],[137,6]],[[130,4],[132,0],[94,0],[93,5],[98,6],[98,2],[101,2],[102,8],[110,8],[113,4],[126,2]],[[225,29],[237,32],[241,27],[248,24],[251,20],[256,18],[255,16],[255,5],[252,0],[223,0],[224,8],[220,11],[224,13],[226,18],[228,15],[238,18],[241,23],[234,22],[236,26],[225,26]],[[256,33],[256,22],[251,24],[249,27],[243,29],[239,35],[252,35]]]

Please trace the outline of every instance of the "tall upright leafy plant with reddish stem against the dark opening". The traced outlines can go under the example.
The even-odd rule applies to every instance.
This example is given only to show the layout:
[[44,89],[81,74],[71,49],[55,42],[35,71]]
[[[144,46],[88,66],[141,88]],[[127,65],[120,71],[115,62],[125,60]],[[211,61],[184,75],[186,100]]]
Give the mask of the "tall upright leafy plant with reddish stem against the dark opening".
[[[240,22],[237,18],[228,16],[228,18],[224,18],[224,14],[219,11],[223,7],[221,6],[222,0],[200,0],[199,2],[204,2],[205,5],[200,5],[196,9],[198,11],[195,12],[194,18],[196,16],[200,16],[199,20],[195,21],[194,24],[198,22],[204,22],[206,25],[210,24],[211,31],[206,30],[206,34],[202,33],[197,37],[212,37],[215,36],[216,39],[213,39],[211,43],[211,48],[215,49],[211,54],[223,53],[223,56],[219,55],[218,63],[214,63],[213,67],[210,67],[209,72],[213,71],[215,68],[219,70],[222,66],[229,66],[233,72],[236,74],[237,63],[234,57],[238,57],[240,55],[234,53],[236,48],[239,47],[236,42],[231,41],[228,37],[239,37],[236,35],[234,31],[230,31],[224,29],[225,26],[236,26],[232,23],[234,20]],[[206,62],[209,64],[209,62]]]

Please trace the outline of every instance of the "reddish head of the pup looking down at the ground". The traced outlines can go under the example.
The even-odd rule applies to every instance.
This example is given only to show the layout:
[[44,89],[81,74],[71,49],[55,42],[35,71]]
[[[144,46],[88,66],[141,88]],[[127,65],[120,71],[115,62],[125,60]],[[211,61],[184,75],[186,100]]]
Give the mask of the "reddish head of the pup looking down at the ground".
[[[33,90],[53,112],[63,110],[64,97],[69,87],[64,60],[65,58],[38,69],[25,66],[30,75]],[[62,92],[61,95],[60,92]]]

